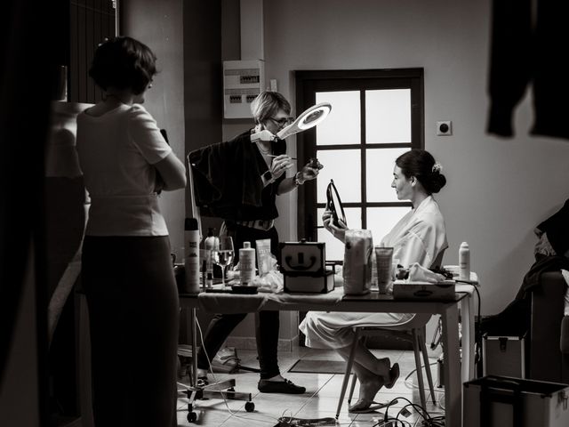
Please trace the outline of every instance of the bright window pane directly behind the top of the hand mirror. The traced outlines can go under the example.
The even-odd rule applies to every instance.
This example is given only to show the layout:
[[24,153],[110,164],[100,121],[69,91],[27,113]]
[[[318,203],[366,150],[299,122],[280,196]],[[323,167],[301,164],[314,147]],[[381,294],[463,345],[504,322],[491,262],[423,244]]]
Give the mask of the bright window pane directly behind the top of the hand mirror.
[[317,150],[318,160],[324,165],[317,178],[318,203],[326,203],[326,187],[331,179],[342,202],[361,201],[360,153],[359,149]]

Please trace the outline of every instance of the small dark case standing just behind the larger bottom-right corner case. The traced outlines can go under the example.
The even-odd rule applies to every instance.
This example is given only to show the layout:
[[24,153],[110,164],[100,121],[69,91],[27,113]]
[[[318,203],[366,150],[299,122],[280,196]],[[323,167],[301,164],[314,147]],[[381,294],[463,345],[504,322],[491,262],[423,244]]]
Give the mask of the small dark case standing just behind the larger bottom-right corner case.
[[483,375],[525,378],[524,336],[482,336]]

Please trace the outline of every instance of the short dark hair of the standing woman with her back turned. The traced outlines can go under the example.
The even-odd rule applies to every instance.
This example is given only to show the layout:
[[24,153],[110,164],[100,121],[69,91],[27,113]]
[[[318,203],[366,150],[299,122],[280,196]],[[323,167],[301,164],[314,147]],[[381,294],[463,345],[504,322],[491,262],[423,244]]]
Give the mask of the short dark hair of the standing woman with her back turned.
[[156,55],[132,37],[113,37],[99,45],[89,76],[102,90],[108,87],[143,93],[156,74]]

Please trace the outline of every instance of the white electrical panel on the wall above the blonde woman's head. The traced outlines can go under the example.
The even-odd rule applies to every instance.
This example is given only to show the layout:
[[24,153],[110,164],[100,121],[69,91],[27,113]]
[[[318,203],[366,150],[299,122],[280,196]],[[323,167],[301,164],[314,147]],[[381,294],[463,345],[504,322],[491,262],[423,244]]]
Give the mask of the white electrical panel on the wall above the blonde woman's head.
[[223,117],[250,118],[251,102],[264,90],[263,60],[223,61]]

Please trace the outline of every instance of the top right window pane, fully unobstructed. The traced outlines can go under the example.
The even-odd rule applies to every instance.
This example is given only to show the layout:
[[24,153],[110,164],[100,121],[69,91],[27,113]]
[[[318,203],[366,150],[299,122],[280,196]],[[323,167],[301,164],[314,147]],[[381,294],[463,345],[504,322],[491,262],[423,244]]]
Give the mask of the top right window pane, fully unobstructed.
[[365,91],[365,142],[411,142],[411,89]]

